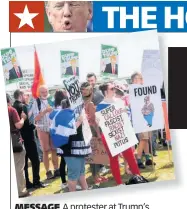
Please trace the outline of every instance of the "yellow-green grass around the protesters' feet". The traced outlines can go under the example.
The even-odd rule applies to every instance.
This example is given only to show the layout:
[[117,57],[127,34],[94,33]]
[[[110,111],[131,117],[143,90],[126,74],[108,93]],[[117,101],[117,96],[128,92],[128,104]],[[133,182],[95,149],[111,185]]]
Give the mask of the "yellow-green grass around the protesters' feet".
[[[171,160],[172,160],[172,151],[169,152],[171,155]],[[152,167],[148,167],[146,169],[141,170],[141,175],[143,175],[145,178],[147,178],[150,182],[155,182],[155,181],[166,181],[166,180],[173,180],[175,179],[174,175],[174,165],[172,162],[169,161],[169,154],[167,148],[159,148],[157,151],[158,156],[154,157],[154,161],[156,162],[155,166],[155,171],[153,170]],[[52,165],[51,165],[52,166]],[[124,167],[121,167],[121,177],[123,181],[127,181],[130,176],[124,174],[125,169]],[[30,175],[30,180],[32,180],[32,169],[29,168],[29,175]],[[105,187],[113,187],[116,186],[115,181],[111,175],[111,172],[109,171],[106,176],[109,178],[109,181],[107,183],[103,183],[100,185],[100,188],[105,188]],[[67,192],[61,190],[61,179],[56,178],[52,180],[45,180],[46,175],[45,175],[45,168],[43,163],[40,165],[40,177],[41,181],[44,181],[46,183],[49,183],[49,185],[44,188],[44,189],[37,189],[35,191],[32,191],[32,196],[40,196],[40,195],[48,195],[48,194],[58,194],[58,193],[64,193]],[[91,176],[91,173],[89,171],[89,165],[86,165],[86,177],[87,177],[87,182],[88,185],[91,186],[93,185],[93,178]]]

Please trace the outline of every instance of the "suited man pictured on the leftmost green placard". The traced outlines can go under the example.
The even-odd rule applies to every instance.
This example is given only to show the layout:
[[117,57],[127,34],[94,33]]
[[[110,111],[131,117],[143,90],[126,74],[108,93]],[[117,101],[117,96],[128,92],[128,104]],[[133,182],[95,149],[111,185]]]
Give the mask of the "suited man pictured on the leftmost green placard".
[[12,62],[13,68],[9,70],[9,80],[22,78],[23,74],[22,74],[20,66],[18,66],[17,64],[16,58],[13,57],[11,59],[11,62]]

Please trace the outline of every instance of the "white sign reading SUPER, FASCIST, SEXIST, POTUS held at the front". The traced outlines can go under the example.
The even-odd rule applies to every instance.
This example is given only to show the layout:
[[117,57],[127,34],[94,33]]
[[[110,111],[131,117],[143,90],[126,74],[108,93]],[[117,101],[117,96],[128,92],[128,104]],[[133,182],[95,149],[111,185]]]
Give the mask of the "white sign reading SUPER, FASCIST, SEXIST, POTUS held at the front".
[[96,112],[111,155],[115,156],[138,143],[124,106],[118,103]]

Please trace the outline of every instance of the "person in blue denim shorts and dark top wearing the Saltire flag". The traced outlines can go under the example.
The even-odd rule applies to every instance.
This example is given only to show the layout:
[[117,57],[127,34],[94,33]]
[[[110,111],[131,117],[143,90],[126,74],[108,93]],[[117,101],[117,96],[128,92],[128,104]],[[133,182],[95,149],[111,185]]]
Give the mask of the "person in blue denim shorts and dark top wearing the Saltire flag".
[[[64,111],[71,110],[68,99],[62,101]],[[75,120],[75,117],[74,117]],[[82,115],[76,121],[77,133],[70,135],[68,144],[61,147],[65,162],[68,167],[68,188],[70,192],[76,191],[79,181],[82,190],[87,190],[88,185],[85,178],[85,157],[91,153],[90,145],[86,144],[82,131]],[[65,132],[62,130],[61,133]],[[65,135],[65,133],[63,134]]]

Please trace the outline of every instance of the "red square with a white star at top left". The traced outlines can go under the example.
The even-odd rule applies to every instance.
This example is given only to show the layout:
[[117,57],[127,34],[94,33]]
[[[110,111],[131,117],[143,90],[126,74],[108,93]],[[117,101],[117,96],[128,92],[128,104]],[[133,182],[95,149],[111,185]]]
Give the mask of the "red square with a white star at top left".
[[44,1],[10,1],[9,32],[44,32]]

